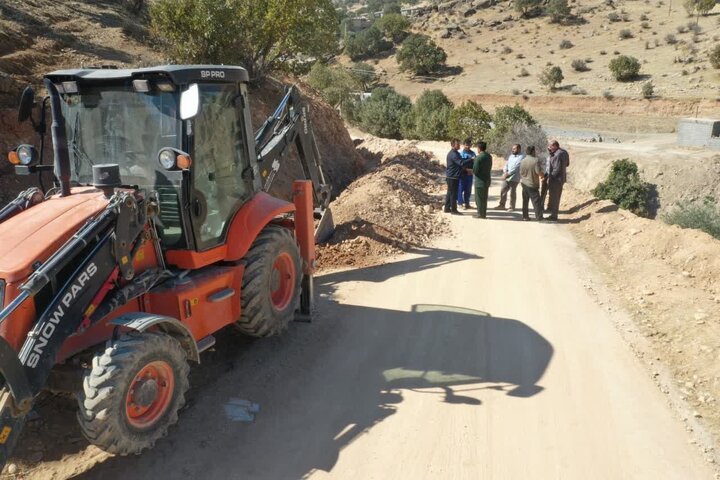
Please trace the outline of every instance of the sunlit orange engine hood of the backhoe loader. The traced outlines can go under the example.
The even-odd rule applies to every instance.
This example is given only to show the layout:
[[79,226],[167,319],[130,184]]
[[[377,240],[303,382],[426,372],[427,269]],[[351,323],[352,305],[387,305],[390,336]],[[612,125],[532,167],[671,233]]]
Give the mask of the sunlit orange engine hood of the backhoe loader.
[[70,196],[51,197],[0,223],[0,278],[26,279],[35,262],[44,262],[107,204],[95,188],[73,188]]

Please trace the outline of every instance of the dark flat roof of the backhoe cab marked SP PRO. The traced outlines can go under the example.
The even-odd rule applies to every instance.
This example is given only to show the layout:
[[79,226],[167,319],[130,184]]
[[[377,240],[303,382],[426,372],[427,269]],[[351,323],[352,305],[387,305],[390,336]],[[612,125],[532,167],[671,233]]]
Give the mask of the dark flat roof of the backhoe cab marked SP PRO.
[[53,82],[105,82],[154,76],[168,77],[176,85],[194,82],[237,83],[249,81],[247,70],[231,65],[161,65],[147,68],[79,68],[56,70],[45,75]]

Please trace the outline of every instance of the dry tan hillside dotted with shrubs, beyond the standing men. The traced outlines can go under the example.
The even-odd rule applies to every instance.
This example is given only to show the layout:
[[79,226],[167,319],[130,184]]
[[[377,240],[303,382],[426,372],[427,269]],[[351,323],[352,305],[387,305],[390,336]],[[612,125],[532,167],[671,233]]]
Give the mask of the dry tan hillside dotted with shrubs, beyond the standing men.
[[[570,5],[582,20],[557,25],[546,17],[520,18],[512,1],[445,2],[437,11],[414,17],[412,28],[430,35],[446,50],[448,65],[460,67],[462,73],[435,80],[413,78],[399,71],[394,55],[378,60],[377,67],[385,72],[387,83],[411,97],[440,88],[454,101],[474,98],[491,106],[518,101],[531,110],[550,112],[548,120],[554,123],[567,123],[557,110],[656,117],[720,111],[720,70],[708,61],[710,49],[720,40],[720,7],[700,17],[695,34],[688,29],[694,18],[688,18],[678,2],[671,10],[664,0],[571,1]],[[609,21],[609,15],[620,21]],[[678,33],[678,27],[685,33]],[[621,40],[623,30],[633,37]],[[563,40],[572,46],[561,48]],[[637,81],[612,79],[608,64],[620,54],[642,63]],[[576,59],[586,61],[588,70],[573,70]],[[560,66],[565,77],[552,94],[537,78],[550,64]],[[640,92],[648,80],[655,86],[652,100],[644,100]],[[627,130],[623,125],[607,127],[613,126]],[[663,130],[668,130],[667,124],[659,129]]]

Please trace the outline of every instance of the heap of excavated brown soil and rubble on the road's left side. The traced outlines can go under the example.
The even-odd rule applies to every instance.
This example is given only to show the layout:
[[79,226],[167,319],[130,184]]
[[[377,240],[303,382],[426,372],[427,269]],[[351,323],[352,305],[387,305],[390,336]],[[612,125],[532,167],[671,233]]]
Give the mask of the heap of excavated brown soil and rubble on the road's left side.
[[379,165],[350,184],[331,205],[337,228],[331,241],[318,248],[323,269],[378,265],[427,246],[448,229],[438,214],[443,168],[432,156],[411,146],[377,153],[384,150],[383,141],[366,142],[359,147],[361,153]]

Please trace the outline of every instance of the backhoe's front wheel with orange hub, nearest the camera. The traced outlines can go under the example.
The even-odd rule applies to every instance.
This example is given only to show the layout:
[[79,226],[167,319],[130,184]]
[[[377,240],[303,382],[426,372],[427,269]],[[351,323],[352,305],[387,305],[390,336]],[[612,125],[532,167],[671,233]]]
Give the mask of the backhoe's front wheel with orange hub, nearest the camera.
[[152,448],[178,420],[189,371],[185,351],[170,335],[130,332],[109,340],[78,396],[83,434],[117,455]]

